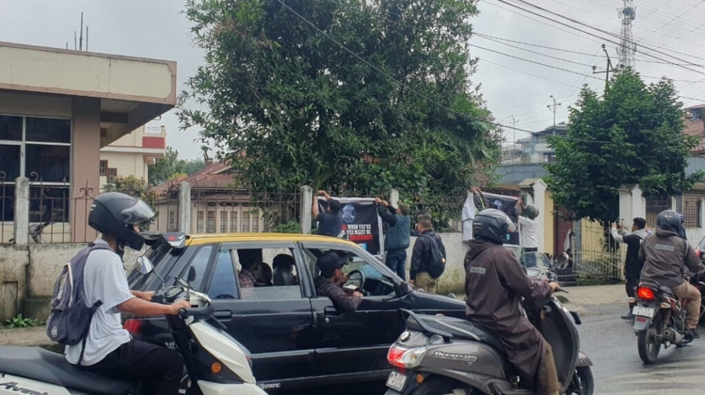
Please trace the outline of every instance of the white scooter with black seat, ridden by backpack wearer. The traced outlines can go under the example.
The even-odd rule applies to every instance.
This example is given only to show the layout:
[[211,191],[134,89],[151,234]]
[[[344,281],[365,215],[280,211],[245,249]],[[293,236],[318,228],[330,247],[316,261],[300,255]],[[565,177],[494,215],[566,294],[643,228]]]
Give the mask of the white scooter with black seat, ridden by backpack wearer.
[[[137,259],[137,265],[143,275],[154,270],[146,257]],[[176,285],[164,288],[162,280],[159,292],[152,298],[162,304],[188,299],[195,306],[181,309],[178,316],[166,316],[188,372],[179,393],[266,395],[252,375],[250,352],[214,318],[208,295],[191,289],[195,276],[191,267],[188,282],[177,278]],[[123,395],[135,393],[138,384],[130,377],[116,379],[90,373],[68,363],[63,354],[39,347],[0,347],[0,395]]]

